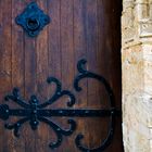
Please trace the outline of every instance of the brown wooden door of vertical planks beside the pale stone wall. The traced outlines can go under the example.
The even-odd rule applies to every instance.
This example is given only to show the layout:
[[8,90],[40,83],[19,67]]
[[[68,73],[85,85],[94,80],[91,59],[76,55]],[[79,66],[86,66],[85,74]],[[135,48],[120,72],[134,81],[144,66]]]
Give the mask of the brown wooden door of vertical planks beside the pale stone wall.
[[[112,109],[121,110],[122,104],[121,0],[36,0],[51,20],[35,37],[15,21],[30,2],[0,0],[0,152],[123,152],[122,117],[112,116]],[[78,91],[76,80],[83,74],[86,77],[78,83],[83,88]],[[50,76],[54,79],[48,79],[53,81],[49,85],[46,79]],[[62,89],[53,97],[61,85],[58,80]],[[14,87],[20,89],[21,97],[17,88],[11,93]],[[65,96],[60,98],[61,93]],[[114,94],[113,105],[109,102],[113,96],[110,93]],[[7,94],[5,100],[10,102],[4,100]],[[36,107],[50,116],[38,119],[37,111],[30,115],[28,105],[37,101],[42,104],[51,97],[56,99],[48,106]],[[68,106],[67,101],[74,98],[75,103]],[[27,107],[18,105],[23,100]],[[66,110],[72,111],[66,115]],[[75,110],[85,111],[80,116]],[[88,116],[86,110],[110,111]],[[33,118],[38,119],[37,129]],[[7,129],[7,123],[15,125],[5,125]],[[74,128],[67,131],[71,125]],[[20,137],[16,138],[17,129]],[[84,138],[76,144],[79,134]],[[55,141],[56,145],[51,149],[49,144]]]

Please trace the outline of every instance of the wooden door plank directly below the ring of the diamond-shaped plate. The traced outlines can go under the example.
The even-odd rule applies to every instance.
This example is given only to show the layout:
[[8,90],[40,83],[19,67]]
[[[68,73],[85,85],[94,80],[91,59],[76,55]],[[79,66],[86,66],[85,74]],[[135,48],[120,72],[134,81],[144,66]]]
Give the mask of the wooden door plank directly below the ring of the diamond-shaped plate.
[[[24,0],[24,9],[31,2],[31,0]],[[23,10],[24,10],[23,9]],[[22,27],[20,27],[22,28]],[[23,29],[22,29],[23,30]],[[37,51],[36,39],[30,38],[24,31],[24,66],[25,66],[25,99],[27,102],[30,100],[30,96],[37,92]],[[25,124],[25,152],[36,151],[36,131],[31,130],[29,123]]]

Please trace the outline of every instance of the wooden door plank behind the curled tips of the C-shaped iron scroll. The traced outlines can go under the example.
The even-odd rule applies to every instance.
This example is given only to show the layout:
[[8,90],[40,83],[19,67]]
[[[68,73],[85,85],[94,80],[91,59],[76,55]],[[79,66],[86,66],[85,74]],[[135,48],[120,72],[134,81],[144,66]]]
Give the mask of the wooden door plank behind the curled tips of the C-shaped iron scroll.
[[[77,62],[80,59],[87,60],[87,0],[74,0],[74,50],[75,50],[75,76],[78,75]],[[88,80],[84,79],[80,83],[83,91],[76,92],[76,109],[87,107],[88,102]],[[85,128],[85,129],[84,129]],[[78,134],[85,135],[84,143],[88,143],[88,124],[87,118],[77,118],[77,131],[75,132],[75,138]],[[75,148],[75,145],[73,145]],[[75,148],[77,151],[77,148]]]

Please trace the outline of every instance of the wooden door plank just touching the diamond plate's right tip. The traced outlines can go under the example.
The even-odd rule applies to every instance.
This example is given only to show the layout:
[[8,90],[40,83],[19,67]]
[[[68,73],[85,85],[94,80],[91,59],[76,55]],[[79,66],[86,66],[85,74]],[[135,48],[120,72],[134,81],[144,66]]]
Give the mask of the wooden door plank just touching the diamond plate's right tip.
[[[48,30],[48,60],[49,60],[49,76],[56,77],[61,80],[62,74],[62,55],[61,55],[61,0],[50,1],[48,0],[48,15],[51,17],[51,24]],[[49,97],[55,91],[55,86],[49,87]],[[50,109],[60,109],[61,100],[49,106]],[[51,121],[53,118],[50,118]],[[60,123],[59,119],[55,121]],[[61,121],[62,122],[62,121]],[[49,142],[56,139],[56,135],[49,128]],[[62,151],[62,147],[54,151]],[[48,148],[48,152],[50,149]],[[53,151],[53,150],[52,150]]]

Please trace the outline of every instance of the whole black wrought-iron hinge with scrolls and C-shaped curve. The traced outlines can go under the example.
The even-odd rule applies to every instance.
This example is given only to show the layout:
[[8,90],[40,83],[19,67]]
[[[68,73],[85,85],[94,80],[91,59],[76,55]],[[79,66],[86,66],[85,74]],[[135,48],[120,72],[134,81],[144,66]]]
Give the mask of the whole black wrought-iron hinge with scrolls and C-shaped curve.
[[3,121],[9,119],[11,116],[21,117],[16,123],[14,124],[5,124],[7,129],[13,129],[14,136],[20,137],[18,130],[22,127],[22,125],[26,122],[29,122],[29,125],[33,130],[38,128],[38,125],[40,122],[43,122],[48,124],[56,134],[58,140],[50,143],[50,148],[54,149],[61,145],[63,136],[71,136],[76,130],[76,122],[72,118],[67,121],[69,124],[69,129],[65,130],[62,129],[59,125],[56,125],[54,122],[49,119],[48,117],[110,117],[110,124],[109,124],[109,134],[104,141],[101,143],[101,145],[97,149],[89,149],[81,144],[81,139],[84,136],[79,134],[76,139],[75,143],[77,148],[80,151],[84,152],[102,152],[107,148],[107,145],[111,143],[113,134],[114,134],[114,118],[115,116],[121,115],[121,111],[116,110],[114,106],[114,96],[113,91],[109,85],[109,83],[102,77],[97,74],[93,74],[87,69],[85,69],[84,65],[86,64],[86,60],[80,60],[77,64],[78,68],[78,76],[76,76],[74,80],[74,88],[76,91],[81,91],[83,88],[79,87],[79,81],[84,78],[94,78],[102,83],[105,87],[105,90],[109,94],[109,103],[110,109],[107,110],[90,110],[90,109],[83,109],[83,110],[73,110],[73,109],[56,109],[56,110],[48,110],[45,109],[48,105],[54,103],[63,96],[67,96],[69,101],[67,102],[67,106],[73,106],[75,104],[75,96],[68,91],[68,90],[62,90],[62,84],[54,77],[49,77],[47,79],[48,84],[55,84],[56,90],[54,94],[46,102],[39,103],[39,100],[36,96],[31,96],[30,100],[27,103],[20,94],[20,90],[17,88],[14,88],[12,93],[8,94],[5,97],[5,101],[13,101],[16,104],[21,105],[22,109],[15,109],[12,110],[9,107],[8,104],[1,104],[0,105],[0,118]]

